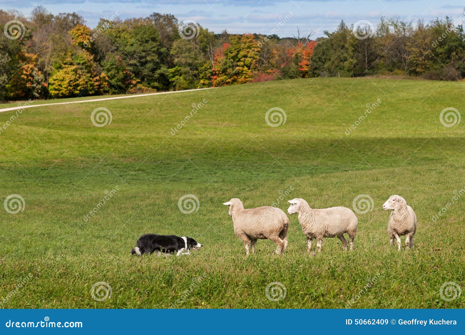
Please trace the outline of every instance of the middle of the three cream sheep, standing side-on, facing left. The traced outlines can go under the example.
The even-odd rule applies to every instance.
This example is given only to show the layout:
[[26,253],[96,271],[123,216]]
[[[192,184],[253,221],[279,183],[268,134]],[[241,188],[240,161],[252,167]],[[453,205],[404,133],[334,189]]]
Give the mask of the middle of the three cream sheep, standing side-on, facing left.
[[341,240],[344,250],[347,250],[347,240],[344,233],[349,234],[350,250],[353,249],[353,239],[357,233],[359,220],[355,214],[346,207],[331,207],[325,209],[312,209],[304,199],[288,200],[291,204],[287,213],[299,213],[299,223],[307,236],[307,252],[312,249],[312,240],[317,239],[317,250],[321,251],[323,237],[337,236]]

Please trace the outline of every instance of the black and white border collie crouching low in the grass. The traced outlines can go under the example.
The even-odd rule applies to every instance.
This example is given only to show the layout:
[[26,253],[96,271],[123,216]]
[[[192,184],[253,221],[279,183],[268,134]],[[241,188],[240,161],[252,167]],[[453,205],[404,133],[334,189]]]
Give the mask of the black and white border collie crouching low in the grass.
[[131,251],[132,255],[140,256],[142,254],[152,254],[157,252],[158,256],[162,252],[171,254],[176,252],[176,256],[189,255],[190,250],[199,250],[202,244],[197,243],[191,237],[179,237],[174,235],[157,235],[157,234],[144,234],[137,240],[137,247]]

